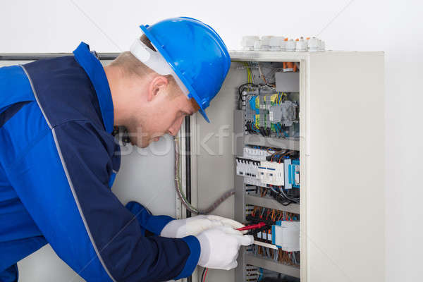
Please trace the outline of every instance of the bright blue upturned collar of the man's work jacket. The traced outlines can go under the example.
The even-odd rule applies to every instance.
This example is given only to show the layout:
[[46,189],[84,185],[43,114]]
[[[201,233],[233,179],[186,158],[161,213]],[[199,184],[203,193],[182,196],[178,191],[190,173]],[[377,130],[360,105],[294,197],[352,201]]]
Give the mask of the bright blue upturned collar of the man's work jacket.
[[111,99],[109,81],[106,73],[104,73],[102,63],[90,52],[90,46],[84,42],[81,42],[78,48],[73,51],[73,55],[85,73],[87,73],[92,85],[94,85],[100,110],[102,111],[104,128],[108,133],[111,133],[114,125],[113,101]]

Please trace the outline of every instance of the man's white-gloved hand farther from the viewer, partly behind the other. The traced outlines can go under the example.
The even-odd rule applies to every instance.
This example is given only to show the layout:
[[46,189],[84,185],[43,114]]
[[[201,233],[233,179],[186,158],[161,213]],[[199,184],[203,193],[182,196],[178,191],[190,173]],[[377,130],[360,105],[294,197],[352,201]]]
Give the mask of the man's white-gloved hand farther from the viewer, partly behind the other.
[[170,221],[161,230],[160,235],[168,238],[183,238],[188,235],[197,235],[209,228],[217,226],[231,226],[231,228],[240,228],[244,225],[232,219],[226,219],[222,216],[192,216],[188,219],[176,219]]

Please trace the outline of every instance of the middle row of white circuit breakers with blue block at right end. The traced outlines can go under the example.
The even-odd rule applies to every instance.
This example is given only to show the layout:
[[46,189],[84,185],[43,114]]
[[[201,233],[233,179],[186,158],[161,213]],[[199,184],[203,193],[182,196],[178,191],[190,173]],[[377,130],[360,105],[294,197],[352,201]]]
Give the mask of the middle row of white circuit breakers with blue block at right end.
[[300,160],[271,147],[246,145],[243,157],[236,158],[236,173],[245,184],[300,188]]

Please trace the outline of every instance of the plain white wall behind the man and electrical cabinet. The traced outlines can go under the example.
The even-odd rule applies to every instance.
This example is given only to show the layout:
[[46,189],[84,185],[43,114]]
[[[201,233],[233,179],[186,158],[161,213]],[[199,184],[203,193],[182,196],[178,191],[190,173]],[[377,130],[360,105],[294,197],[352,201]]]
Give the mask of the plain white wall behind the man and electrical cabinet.
[[[386,51],[386,281],[417,281],[423,276],[422,7],[381,0],[7,1],[0,53],[68,52],[80,41],[97,51],[122,51],[139,35],[137,25],[171,16],[212,25],[230,49],[242,35],[320,33],[328,49]],[[365,97],[359,92],[357,99]],[[360,124],[351,130],[360,134]],[[368,255],[363,250],[363,259]]]

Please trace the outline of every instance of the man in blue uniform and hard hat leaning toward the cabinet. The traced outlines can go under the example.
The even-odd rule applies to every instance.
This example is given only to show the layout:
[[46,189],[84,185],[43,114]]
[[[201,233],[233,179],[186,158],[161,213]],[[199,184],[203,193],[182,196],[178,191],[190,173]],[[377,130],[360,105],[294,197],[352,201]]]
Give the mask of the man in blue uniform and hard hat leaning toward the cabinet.
[[176,135],[185,116],[207,119],[230,66],[219,35],[198,20],[141,28],[105,68],[85,43],[74,56],[0,68],[0,281],[17,281],[16,262],[47,243],[86,281],[231,269],[252,243],[230,219],[152,216],[111,192],[114,125],[140,147]]

